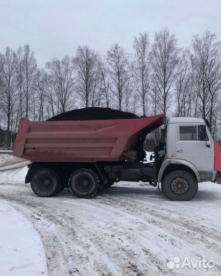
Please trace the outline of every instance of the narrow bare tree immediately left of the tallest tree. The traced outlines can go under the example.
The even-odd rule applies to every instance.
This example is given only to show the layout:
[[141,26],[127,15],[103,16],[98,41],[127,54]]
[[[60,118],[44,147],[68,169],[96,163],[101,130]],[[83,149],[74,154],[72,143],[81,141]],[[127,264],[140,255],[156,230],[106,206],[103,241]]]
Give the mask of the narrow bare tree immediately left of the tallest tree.
[[134,38],[134,59],[131,64],[133,87],[137,99],[142,106],[142,113],[147,113],[148,96],[150,93],[150,41],[148,33],[139,34]]

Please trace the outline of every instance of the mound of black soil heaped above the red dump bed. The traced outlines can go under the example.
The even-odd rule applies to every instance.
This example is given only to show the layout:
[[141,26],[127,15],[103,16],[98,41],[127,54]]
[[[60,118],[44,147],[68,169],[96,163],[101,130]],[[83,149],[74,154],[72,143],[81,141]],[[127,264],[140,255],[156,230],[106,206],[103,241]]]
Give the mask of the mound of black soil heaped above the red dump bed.
[[54,116],[47,121],[84,121],[84,120],[113,120],[113,119],[136,119],[134,113],[119,111],[106,107],[88,107],[74,109],[57,116]]

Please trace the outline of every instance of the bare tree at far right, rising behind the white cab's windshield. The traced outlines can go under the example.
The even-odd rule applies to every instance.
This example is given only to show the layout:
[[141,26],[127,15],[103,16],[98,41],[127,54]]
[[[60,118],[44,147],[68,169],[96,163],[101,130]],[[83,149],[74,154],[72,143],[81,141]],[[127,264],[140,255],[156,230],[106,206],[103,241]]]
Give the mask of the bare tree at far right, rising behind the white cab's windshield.
[[194,35],[189,56],[197,108],[214,132],[221,90],[221,42],[209,31],[205,31],[202,37]]

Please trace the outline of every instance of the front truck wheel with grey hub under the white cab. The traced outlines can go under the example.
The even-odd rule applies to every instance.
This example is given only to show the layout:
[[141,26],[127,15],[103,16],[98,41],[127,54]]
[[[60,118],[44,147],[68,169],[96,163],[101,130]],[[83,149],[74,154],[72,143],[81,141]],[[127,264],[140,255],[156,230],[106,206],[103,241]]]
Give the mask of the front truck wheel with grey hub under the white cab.
[[164,177],[161,188],[170,200],[188,201],[197,193],[198,182],[191,173],[177,170]]

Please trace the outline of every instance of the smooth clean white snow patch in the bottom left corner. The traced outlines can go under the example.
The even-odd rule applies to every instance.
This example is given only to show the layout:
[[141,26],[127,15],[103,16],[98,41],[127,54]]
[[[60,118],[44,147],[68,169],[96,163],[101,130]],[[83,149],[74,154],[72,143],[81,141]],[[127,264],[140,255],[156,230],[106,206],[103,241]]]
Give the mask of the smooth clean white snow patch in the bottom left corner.
[[0,201],[0,275],[47,275],[41,239],[24,216]]

